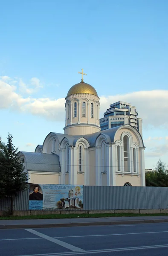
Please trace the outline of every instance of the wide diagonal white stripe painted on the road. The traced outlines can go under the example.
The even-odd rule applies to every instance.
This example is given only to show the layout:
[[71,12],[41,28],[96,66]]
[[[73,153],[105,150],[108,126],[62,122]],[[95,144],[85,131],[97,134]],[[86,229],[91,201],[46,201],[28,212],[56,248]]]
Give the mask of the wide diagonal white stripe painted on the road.
[[65,247],[65,248],[67,248],[67,249],[69,249],[69,250],[72,250],[73,252],[84,251],[83,249],[78,248],[78,247],[76,247],[76,246],[74,246],[74,245],[72,245],[72,244],[68,244],[68,243],[66,243],[66,242],[60,241],[60,240],[55,239],[55,238],[53,238],[53,237],[51,237],[51,236],[46,236],[46,235],[44,235],[44,234],[42,234],[42,233],[40,233],[40,232],[38,232],[38,231],[36,231],[36,230],[32,230],[32,229],[30,229],[30,228],[25,229],[25,230],[29,231],[30,233],[32,233],[32,234],[34,234],[34,235],[36,235],[36,236],[40,236],[40,237],[42,237],[42,238],[44,238],[44,239],[46,239],[46,240],[49,240],[49,241],[51,241],[51,242],[53,242],[53,243],[55,243],[55,244],[59,244],[59,245],[61,245],[62,247]]

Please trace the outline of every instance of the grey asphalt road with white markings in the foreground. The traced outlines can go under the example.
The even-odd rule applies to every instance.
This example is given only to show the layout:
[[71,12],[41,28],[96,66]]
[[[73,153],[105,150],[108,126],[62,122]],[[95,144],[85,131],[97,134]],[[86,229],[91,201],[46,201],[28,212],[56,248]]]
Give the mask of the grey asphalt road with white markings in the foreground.
[[167,256],[168,223],[0,230],[0,256]]

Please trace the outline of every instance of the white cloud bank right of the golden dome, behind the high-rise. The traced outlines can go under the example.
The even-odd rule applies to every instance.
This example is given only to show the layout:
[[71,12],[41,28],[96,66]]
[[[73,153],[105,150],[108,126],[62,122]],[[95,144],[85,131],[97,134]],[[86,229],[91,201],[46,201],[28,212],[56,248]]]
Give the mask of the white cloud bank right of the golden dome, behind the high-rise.
[[137,107],[138,117],[143,119],[143,127],[162,126],[168,128],[168,90],[151,90],[127,93],[124,95],[100,97],[101,116],[110,104],[118,102],[130,102]]

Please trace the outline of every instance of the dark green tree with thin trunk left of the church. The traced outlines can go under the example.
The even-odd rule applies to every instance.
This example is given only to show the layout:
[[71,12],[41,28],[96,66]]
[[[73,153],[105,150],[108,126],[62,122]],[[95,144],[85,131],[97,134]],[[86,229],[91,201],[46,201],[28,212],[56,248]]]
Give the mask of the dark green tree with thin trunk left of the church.
[[18,148],[12,142],[13,137],[8,134],[7,144],[0,140],[0,198],[10,198],[10,214],[13,214],[13,200],[18,192],[27,189],[27,174],[24,172],[23,162]]

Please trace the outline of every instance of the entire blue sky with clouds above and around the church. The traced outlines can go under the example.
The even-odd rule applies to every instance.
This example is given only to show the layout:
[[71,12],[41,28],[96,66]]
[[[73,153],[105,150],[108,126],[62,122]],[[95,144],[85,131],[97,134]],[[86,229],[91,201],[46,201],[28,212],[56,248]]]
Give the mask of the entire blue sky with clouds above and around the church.
[[64,133],[65,97],[81,81],[100,97],[100,118],[119,100],[143,119],[145,168],[168,166],[168,1],[2,0],[0,137],[35,151]]

